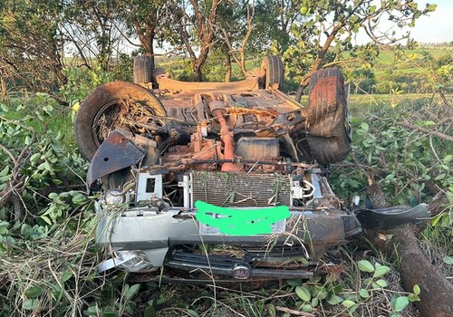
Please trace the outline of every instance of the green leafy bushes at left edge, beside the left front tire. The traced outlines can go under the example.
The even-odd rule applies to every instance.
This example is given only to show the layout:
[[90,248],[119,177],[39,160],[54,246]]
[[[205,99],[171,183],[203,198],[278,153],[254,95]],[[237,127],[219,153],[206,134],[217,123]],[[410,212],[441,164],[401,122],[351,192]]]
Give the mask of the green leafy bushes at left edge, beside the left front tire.
[[[14,215],[19,220],[24,213],[40,215],[48,202],[43,190],[62,186],[63,180],[79,179],[85,166],[80,156],[66,151],[61,131],[46,128],[56,112],[53,100],[38,94],[37,101],[44,105],[21,119],[8,119],[5,105],[2,109],[6,113],[0,114],[0,139],[4,140],[0,151],[0,215],[4,219]],[[24,105],[19,105],[18,110],[24,110]],[[35,130],[38,122],[39,130]]]

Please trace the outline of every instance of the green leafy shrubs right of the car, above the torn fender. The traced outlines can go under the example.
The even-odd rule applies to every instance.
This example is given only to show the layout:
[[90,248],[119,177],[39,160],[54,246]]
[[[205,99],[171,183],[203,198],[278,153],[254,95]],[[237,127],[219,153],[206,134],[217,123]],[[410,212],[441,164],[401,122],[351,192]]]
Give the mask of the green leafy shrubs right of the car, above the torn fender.
[[354,159],[335,169],[334,191],[342,197],[355,193],[364,200],[361,188],[367,187],[367,175],[376,179],[396,205],[427,201],[436,186],[452,190],[451,142],[416,129],[436,128],[451,135],[451,127],[441,118],[451,118],[449,106],[415,101],[394,108],[378,105],[364,117],[353,118]]

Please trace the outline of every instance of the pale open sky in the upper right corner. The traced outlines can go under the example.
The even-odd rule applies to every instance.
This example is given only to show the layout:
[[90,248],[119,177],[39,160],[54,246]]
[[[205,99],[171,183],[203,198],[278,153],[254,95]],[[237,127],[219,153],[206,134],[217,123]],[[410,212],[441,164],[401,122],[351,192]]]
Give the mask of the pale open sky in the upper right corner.
[[436,11],[429,16],[421,16],[410,29],[411,37],[419,43],[453,42],[453,0],[418,0],[424,7],[426,3],[436,4]]

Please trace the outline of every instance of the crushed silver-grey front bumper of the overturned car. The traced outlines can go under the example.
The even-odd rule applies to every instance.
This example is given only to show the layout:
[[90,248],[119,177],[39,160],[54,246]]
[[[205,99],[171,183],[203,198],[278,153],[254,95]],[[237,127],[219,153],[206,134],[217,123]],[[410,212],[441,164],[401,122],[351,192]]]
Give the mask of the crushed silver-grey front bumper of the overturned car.
[[[266,262],[271,257],[273,247],[287,247],[301,251],[298,255],[294,255],[293,252],[293,255],[282,253],[277,256],[279,257],[277,262],[280,264],[301,256],[307,261],[315,261],[327,248],[343,245],[347,242],[348,236],[361,232],[357,218],[343,210],[294,209],[290,210],[290,213],[291,216],[285,219],[283,232],[269,235],[223,235],[216,230],[212,230],[212,234],[206,234],[209,231],[200,230],[200,223],[195,217],[196,212],[183,211],[181,208],[169,208],[161,213],[157,213],[153,208],[136,208],[121,216],[101,215],[97,244],[109,247],[114,253],[113,257],[104,261],[99,269],[105,271],[112,267],[120,267],[130,272],[147,272],[165,265],[185,271],[206,270],[209,267],[211,274],[236,278],[237,274],[246,274],[247,270],[253,277],[272,275],[286,278],[309,277],[310,272],[270,270],[269,265],[260,268],[259,264],[256,264],[256,259],[259,258],[258,262]],[[251,256],[247,252],[239,258],[228,259],[224,256],[222,261],[220,258],[217,262],[207,260],[206,264],[202,256],[190,264],[188,254],[176,256],[174,252],[181,245],[237,245],[245,249],[267,251],[259,256]]]

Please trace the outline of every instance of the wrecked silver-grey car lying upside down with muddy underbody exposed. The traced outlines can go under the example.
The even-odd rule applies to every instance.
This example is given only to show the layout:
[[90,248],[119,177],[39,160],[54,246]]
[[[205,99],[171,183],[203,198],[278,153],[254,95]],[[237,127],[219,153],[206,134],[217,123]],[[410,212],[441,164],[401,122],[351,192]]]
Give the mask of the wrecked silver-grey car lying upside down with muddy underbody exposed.
[[277,56],[241,82],[178,82],[148,62],[136,58],[136,83],[92,91],[76,117],[109,251],[101,272],[309,278],[363,226],[429,216],[424,205],[352,212],[334,195],[329,164],[351,149],[338,69],[313,74],[303,105],[281,91]]

